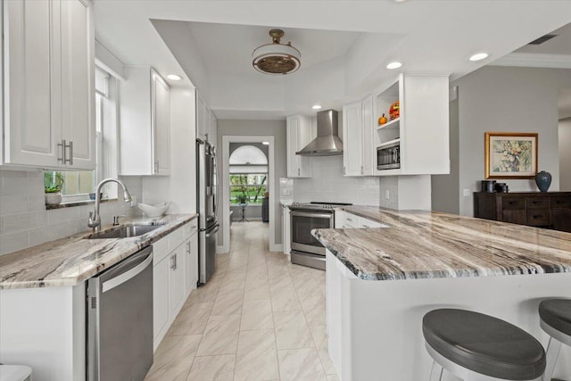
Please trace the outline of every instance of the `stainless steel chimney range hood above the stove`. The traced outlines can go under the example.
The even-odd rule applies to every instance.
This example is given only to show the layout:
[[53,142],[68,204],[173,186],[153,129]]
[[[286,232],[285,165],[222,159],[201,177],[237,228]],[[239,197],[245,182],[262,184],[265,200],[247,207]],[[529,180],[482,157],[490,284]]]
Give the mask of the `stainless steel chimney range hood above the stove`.
[[318,137],[295,154],[303,156],[335,156],[343,154],[339,133],[338,114],[335,110],[318,112]]

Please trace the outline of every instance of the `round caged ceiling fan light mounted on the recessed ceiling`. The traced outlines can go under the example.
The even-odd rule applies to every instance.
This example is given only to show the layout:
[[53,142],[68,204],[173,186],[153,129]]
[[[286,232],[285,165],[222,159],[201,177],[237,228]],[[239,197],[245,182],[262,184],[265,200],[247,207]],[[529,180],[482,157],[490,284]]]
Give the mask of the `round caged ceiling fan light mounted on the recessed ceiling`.
[[298,70],[302,64],[302,54],[291,42],[279,42],[281,37],[284,37],[284,31],[271,29],[269,36],[272,39],[271,44],[258,46],[252,52],[254,69],[270,75],[289,74]]

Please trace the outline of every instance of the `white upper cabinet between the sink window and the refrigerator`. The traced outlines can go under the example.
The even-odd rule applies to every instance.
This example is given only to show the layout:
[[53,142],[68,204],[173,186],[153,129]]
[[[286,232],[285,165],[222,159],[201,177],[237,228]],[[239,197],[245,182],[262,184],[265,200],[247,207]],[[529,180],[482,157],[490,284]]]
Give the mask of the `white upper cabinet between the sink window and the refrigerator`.
[[170,175],[170,88],[151,68],[121,82],[120,175]]

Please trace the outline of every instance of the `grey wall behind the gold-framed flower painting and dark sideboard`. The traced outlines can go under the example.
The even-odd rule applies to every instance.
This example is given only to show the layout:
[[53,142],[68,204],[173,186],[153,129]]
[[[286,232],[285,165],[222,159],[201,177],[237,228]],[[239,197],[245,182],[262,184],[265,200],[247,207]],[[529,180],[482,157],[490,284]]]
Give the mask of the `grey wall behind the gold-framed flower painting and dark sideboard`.
[[[451,152],[459,152],[455,189],[460,214],[474,214],[472,195],[461,192],[480,189],[486,131],[537,132],[538,170],[549,171],[550,190],[559,190],[558,96],[559,89],[571,87],[571,70],[487,66],[451,85],[459,87],[459,138]],[[533,179],[501,181],[510,191],[537,191]]]

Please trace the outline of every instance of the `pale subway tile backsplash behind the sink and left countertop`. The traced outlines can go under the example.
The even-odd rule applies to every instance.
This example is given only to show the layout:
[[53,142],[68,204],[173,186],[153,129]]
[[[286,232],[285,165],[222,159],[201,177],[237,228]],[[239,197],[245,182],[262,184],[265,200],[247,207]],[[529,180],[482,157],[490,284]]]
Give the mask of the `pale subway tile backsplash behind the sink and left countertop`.
[[[131,195],[141,200],[140,178],[122,178]],[[93,204],[46,211],[43,172],[0,170],[0,255],[88,231],[87,217]],[[103,225],[112,216],[137,216],[137,207],[122,200],[102,203]]]

